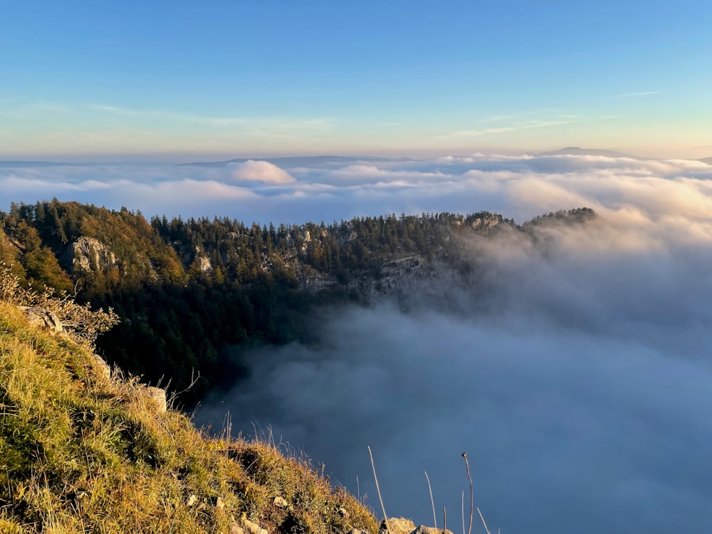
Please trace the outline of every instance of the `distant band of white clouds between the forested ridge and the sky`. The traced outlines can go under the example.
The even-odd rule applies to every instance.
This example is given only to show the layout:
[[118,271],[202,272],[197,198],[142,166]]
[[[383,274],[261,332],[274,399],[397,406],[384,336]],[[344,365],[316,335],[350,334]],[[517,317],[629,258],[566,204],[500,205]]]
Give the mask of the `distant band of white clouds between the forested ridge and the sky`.
[[712,166],[699,161],[586,153],[283,158],[212,167],[0,164],[0,205],[57,197],[114,209],[130,206],[144,214],[219,214],[264,224],[479,210],[523,221],[580,206],[704,217],[711,178]]

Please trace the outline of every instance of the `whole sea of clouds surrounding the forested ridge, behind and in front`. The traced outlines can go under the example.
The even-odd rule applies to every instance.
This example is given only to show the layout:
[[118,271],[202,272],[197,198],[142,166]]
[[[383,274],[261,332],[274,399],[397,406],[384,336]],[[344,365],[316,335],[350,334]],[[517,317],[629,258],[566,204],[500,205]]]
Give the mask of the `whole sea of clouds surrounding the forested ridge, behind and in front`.
[[262,223],[595,209],[536,245],[468,241],[479,278],[454,288],[456,307],[413,295],[408,313],[321,310],[318,344],[257,350],[251,379],[197,419],[220,426],[229,410],[234,431],[271,428],[379,508],[370,445],[387,513],[433,523],[427,471],[455,532],[463,451],[491,530],[712,531],[711,166],[584,154],[0,168],[0,204],[51,197]]

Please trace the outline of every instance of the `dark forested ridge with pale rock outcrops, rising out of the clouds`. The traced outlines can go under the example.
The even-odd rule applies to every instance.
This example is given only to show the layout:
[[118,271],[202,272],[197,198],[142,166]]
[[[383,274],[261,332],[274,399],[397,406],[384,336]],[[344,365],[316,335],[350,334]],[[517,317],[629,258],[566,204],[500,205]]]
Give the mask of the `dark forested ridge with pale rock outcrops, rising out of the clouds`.
[[241,353],[310,340],[308,311],[366,300],[355,282],[377,281],[387,263],[472,268],[470,234],[502,229],[535,236],[550,221],[584,222],[590,209],[518,226],[488,212],[359,217],[331,224],[244,224],[228,218],[145,219],[76,202],[11,204],[0,211],[0,261],[22,283],[113,308],[121,323],[98,340],[109,361],[192,403],[245,372]]

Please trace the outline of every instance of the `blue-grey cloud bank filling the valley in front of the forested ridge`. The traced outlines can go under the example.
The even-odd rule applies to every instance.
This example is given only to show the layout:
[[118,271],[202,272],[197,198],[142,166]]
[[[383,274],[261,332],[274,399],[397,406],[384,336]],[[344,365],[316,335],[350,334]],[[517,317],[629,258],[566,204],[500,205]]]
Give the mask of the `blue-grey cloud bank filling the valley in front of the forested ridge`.
[[684,220],[624,209],[536,244],[472,239],[476,285],[436,306],[414,291],[409,313],[325,310],[320,342],[256,351],[199,420],[271,426],[378,508],[371,446],[387,512],[417,523],[427,471],[459,525],[467,451],[503,533],[707,532],[712,221]]

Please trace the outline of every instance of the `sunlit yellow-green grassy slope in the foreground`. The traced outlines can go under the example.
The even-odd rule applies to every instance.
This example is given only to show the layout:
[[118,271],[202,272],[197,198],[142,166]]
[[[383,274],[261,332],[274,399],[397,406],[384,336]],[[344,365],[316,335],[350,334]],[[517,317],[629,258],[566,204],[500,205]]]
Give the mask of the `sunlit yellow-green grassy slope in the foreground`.
[[0,532],[219,533],[244,519],[270,533],[377,531],[310,466],[208,438],[153,402],[103,375],[85,343],[0,302]]

